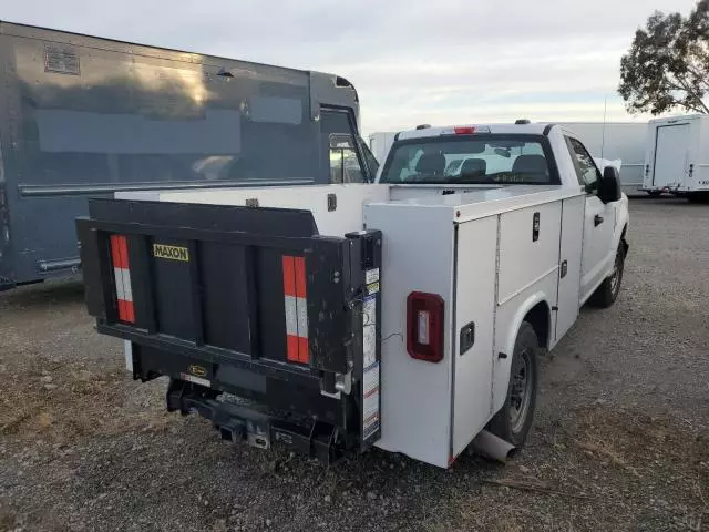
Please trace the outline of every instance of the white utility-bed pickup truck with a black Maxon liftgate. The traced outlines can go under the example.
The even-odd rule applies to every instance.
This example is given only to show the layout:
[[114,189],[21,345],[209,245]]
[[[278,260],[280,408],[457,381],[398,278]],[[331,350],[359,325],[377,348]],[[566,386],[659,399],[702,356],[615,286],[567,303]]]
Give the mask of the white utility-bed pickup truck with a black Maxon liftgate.
[[617,170],[528,123],[402,132],[374,183],[126,192],[78,222],[97,329],[169,376],[168,410],[442,468],[524,442],[537,352],[614,303],[627,228]]

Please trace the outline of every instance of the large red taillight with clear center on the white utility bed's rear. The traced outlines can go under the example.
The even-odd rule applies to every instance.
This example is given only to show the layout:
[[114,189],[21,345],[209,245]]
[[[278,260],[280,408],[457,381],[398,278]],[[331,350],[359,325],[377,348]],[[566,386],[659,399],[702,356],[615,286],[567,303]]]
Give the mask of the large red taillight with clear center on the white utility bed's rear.
[[428,362],[443,360],[443,298],[413,291],[407,298],[407,350]]

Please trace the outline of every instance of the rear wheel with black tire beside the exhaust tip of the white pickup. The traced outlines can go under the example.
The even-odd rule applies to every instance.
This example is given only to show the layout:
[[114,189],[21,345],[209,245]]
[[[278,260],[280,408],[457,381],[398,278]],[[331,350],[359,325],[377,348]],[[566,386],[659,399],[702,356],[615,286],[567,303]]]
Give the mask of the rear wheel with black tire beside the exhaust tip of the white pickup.
[[534,420],[538,387],[538,350],[540,340],[534,327],[523,321],[514,342],[507,398],[489,424],[493,434],[515,447],[524,444]]

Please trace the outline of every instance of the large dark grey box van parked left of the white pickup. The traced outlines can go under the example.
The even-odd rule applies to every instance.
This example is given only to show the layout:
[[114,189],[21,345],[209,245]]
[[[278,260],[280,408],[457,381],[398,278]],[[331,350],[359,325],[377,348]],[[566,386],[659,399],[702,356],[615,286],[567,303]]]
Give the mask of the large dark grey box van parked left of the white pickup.
[[86,196],[368,181],[358,114],[336,75],[0,21],[0,290],[80,267]]

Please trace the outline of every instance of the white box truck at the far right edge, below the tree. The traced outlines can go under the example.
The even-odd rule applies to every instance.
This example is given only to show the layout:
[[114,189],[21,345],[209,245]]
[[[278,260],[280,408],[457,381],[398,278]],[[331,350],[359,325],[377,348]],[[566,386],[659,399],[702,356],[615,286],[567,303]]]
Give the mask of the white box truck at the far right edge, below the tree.
[[643,190],[690,201],[709,197],[709,116],[651,120],[645,150]]

